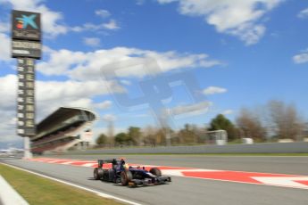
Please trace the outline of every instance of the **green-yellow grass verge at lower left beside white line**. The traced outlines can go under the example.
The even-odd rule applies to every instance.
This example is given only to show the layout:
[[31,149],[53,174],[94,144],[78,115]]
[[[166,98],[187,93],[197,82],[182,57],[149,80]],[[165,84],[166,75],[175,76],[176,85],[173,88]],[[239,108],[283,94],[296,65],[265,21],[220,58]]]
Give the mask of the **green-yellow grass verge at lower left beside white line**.
[[104,199],[95,193],[54,182],[4,164],[0,164],[0,175],[31,205],[121,204],[118,201]]

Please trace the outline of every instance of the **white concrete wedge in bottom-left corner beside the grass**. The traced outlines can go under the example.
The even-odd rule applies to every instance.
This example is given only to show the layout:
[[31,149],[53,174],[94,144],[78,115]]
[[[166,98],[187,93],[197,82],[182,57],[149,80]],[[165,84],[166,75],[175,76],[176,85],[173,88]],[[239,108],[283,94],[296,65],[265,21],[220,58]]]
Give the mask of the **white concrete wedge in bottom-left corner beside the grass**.
[[29,205],[19,193],[17,193],[10,184],[8,184],[4,177],[0,175],[0,204],[3,205]]

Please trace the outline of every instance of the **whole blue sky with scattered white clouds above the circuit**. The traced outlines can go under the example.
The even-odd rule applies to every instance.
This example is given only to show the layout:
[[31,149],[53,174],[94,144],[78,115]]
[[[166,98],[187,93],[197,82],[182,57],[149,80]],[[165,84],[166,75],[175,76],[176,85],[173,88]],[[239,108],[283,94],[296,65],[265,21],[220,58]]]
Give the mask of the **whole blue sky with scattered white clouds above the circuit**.
[[[95,110],[100,116],[96,134],[110,119],[117,131],[155,125],[148,104],[123,107],[116,96],[140,97],[140,82],[180,73],[195,78],[193,94],[179,84],[158,91],[165,94],[171,86],[162,108],[176,128],[204,126],[218,113],[235,119],[242,107],[272,99],[296,104],[308,119],[307,1],[0,0],[0,142],[19,140],[14,131],[16,61],[9,55],[12,8],[43,16],[37,121],[67,105]],[[143,69],[146,59],[155,61],[158,70]],[[102,74],[115,70],[119,61],[117,78]]]

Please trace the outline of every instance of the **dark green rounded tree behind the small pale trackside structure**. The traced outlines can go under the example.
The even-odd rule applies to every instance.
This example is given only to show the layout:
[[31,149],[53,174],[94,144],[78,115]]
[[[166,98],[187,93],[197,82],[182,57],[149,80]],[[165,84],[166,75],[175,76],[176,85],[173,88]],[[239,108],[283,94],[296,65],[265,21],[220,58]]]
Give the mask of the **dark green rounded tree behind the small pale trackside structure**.
[[220,129],[226,130],[229,140],[234,140],[237,137],[237,128],[222,114],[219,114],[214,119],[212,119],[208,130],[214,131]]

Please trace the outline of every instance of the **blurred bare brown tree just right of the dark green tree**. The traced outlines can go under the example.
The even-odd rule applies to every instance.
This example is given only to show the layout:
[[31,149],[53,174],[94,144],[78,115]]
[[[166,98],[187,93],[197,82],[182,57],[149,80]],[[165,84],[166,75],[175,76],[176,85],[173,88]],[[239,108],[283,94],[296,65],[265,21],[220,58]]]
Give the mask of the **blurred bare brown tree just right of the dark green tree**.
[[254,140],[266,139],[266,129],[253,111],[242,109],[237,116],[237,127],[243,137],[252,137]]

